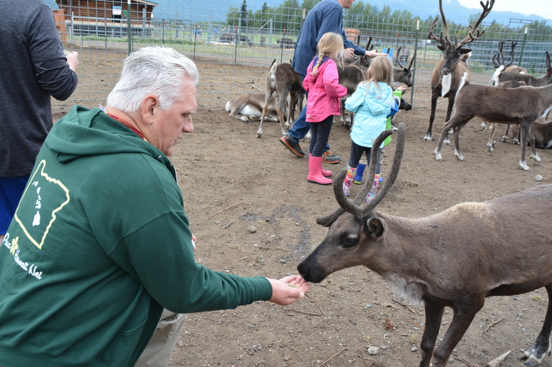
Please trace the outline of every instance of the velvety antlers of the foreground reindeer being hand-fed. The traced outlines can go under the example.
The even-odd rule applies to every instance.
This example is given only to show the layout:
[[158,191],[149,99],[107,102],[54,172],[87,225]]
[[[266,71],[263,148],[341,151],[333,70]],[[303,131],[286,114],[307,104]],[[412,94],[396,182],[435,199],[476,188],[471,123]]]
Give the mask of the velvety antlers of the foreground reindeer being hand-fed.
[[317,218],[316,222],[324,227],[330,227],[335,220],[344,213],[344,211],[347,211],[348,213],[353,214],[354,216],[357,216],[358,218],[362,218],[365,220],[368,218],[370,213],[373,211],[373,209],[383,200],[383,198],[388,193],[389,189],[391,189],[391,186],[393,185],[393,182],[395,182],[395,179],[397,178],[397,174],[399,174],[399,168],[402,161],[402,154],[404,152],[404,140],[406,140],[406,125],[404,123],[399,124],[399,129],[397,132],[397,145],[395,147],[395,156],[393,157],[393,165],[391,166],[391,173],[389,174],[387,180],[385,180],[385,183],[380,190],[379,193],[371,200],[371,202],[368,203],[368,205],[363,206],[362,203],[364,202],[364,198],[366,198],[366,194],[368,194],[368,191],[372,188],[372,184],[375,177],[375,169],[377,166],[377,155],[379,154],[380,149],[376,149],[376,147],[380,147],[382,145],[383,141],[393,134],[392,129],[385,130],[377,136],[377,138],[374,141],[372,153],[370,155],[370,165],[368,169],[368,177],[366,178],[366,182],[364,183],[364,186],[358,193],[355,200],[349,200],[345,193],[343,192],[343,185],[342,182],[345,178],[345,175],[347,174],[347,169],[344,168],[341,171],[339,171],[339,174],[335,177],[333,180],[333,192],[335,194],[335,198],[337,200],[337,203],[339,204],[339,208],[335,209],[333,213],[328,214],[328,216]]

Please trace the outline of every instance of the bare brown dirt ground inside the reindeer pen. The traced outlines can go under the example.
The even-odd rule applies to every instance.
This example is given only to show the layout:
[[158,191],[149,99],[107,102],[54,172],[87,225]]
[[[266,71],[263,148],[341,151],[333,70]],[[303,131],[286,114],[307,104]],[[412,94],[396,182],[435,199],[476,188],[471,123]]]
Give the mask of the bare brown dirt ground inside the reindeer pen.
[[[551,182],[552,150],[539,149],[542,162],[528,159],[533,171],[523,171],[517,166],[520,146],[498,141],[493,153],[486,151],[489,133],[475,131],[480,129],[476,119],[460,134],[465,160],[457,160],[446,146],[445,161],[437,162],[436,142],[422,141],[428,115],[427,109],[413,109],[397,116],[406,123],[406,149],[397,181],[378,211],[427,216],[458,202],[481,202]],[[437,112],[436,120],[442,126],[444,112]],[[195,132],[177,145],[172,161],[198,238],[197,261],[244,276],[297,273],[297,264],[327,231],[315,218],[337,207],[332,187],[307,182],[308,160],[278,142],[277,123],[265,125],[259,139],[258,123],[230,118],[224,109],[199,109],[194,121]],[[330,144],[342,157],[338,165],[325,165],[335,176],[350,149],[348,131],[339,123]],[[302,147],[308,149],[308,143]],[[394,149],[394,143],[386,147],[384,177]],[[543,180],[535,180],[537,175]],[[544,289],[488,299],[449,364],[483,366],[512,350],[502,366],[521,366],[515,356],[535,341],[546,304]],[[446,311],[440,337],[451,317]],[[393,328],[386,330],[390,322]],[[423,326],[422,307],[396,299],[379,275],[357,266],[312,284],[308,297],[291,306],[256,302],[188,315],[170,365],[417,366]],[[368,352],[371,346],[377,354]],[[542,366],[552,366],[552,360],[545,357]]]

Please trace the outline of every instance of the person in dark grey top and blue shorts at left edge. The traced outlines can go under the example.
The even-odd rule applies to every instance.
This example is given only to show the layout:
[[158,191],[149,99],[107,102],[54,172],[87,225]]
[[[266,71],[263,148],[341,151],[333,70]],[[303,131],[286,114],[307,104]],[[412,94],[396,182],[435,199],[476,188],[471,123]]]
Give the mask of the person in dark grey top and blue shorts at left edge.
[[63,53],[52,10],[42,0],[1,0],[0,241],[34,158],[52,129],[50,96],[77,87],[77,52]]

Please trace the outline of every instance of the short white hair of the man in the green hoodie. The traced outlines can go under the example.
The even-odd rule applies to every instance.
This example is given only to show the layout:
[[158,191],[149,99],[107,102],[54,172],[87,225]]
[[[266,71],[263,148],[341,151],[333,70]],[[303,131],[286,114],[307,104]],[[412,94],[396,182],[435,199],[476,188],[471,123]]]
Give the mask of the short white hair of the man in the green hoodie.
[[144,98],[159,98],[161,109],[170,109],[181,98],[184,77],[195,85],[199,74],[195,63],[172,48],[146,47],[124,61],[121,78],[108,95],[109,107],[126,113],[139,111]]

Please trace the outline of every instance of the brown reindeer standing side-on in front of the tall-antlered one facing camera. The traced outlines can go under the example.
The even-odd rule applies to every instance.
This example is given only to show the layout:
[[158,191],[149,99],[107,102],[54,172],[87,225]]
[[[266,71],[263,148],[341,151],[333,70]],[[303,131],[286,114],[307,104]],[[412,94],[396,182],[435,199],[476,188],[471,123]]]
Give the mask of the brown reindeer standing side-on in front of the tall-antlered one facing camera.
[[[435,148],[435,159],[442,161],[441,147],[449,129],[454,131],[454,155],[464,160],[460,153],[460,129],[472,118],[477,116],[488,123],[519,124],[522,154],[520,167],[526,171],[531,169],[525,162],[525,148],[529,136],[529,128],[539,116],[547,116],[552,109],[552,85],[544,87],[495,88],[488,85],[472,85],[462,78],[462,83],[456,95],[456,105],[453,117],[443,127],[441,138]],[[539,162],[540,158],[531,140],[533,153],[531,158]]]

